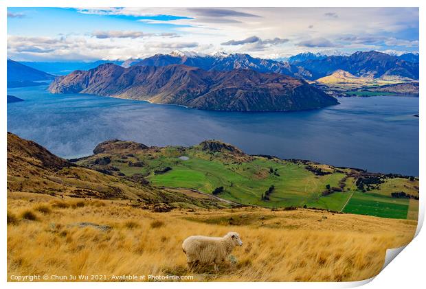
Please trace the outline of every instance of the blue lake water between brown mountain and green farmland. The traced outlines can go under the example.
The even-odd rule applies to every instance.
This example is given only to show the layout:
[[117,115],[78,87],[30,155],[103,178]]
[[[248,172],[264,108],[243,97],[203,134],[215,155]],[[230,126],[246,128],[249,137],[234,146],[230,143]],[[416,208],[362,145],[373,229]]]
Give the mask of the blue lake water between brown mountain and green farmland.
[[350,97],[315,111],[229,113],[45,89],[8,89],[25,100],[8,104],[8,131],[64,158],[89,155],[106,139],[148,146],[220,139],[249,154],[418,176],[418,97]]

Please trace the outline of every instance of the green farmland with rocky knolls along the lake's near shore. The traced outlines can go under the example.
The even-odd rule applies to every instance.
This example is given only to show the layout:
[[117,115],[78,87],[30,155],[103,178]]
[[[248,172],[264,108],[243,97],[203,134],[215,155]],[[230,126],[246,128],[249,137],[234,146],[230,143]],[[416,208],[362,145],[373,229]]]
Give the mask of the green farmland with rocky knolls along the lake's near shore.
[[[243,205],[314,207],[407,218],[410,207],[416,205],[410,198],[418,198],[418,178],[251,156],[221,141],[204,141],[189,148],[108,141],[95,151],[98,153],[76,163],[122,178],[137,176],[155,187],[206,194],[216,191],[216,196]],[[359,178],[373,181],[362,189],[356,183]],[[396,198],[392,192],[409,196]]]

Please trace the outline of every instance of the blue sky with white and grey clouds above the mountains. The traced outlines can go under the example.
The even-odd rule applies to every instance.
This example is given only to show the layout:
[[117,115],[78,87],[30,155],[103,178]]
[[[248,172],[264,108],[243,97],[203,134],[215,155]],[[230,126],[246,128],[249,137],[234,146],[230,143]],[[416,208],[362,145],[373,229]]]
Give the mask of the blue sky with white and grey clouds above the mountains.
[[8,8],[15,60],[126,60],[173,50],[401,54],[418,51],[418,8]]

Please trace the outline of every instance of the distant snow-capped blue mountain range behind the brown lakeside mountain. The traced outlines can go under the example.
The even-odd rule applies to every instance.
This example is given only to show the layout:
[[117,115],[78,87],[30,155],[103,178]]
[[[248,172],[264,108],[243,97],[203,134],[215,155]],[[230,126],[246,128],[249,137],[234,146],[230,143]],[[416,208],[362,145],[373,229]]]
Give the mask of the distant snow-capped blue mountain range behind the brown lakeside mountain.
[[349,56],[326,56],[307,52],[292,56],[288,62],[254,58],[248,54],[200,55],[173,51],[171,54],[155,54],[155,56],[133,63],[136,66],[176,64],[199,67],[207,71],[253,69],[261,73],[281,73],[306,80],[316,80],[328,76],[338,69],[348,71],[355,76],[371,78],[397,76],[418,80],[419,74],[418,55],[391,56],[379,51],[358,51]]

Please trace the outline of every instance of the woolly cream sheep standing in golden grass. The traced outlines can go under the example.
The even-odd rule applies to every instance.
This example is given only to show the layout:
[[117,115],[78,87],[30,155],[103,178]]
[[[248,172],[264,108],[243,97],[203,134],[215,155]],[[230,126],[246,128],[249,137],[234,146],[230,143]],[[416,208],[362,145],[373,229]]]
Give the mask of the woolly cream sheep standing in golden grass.
[[197,263],[212,264],[218,272],[218,264],[225,261],[235,246],[243,246],[240,235],[229,232],[221,237],[194,235],[182,243],[183,253],[186,254],[188,268],[192,270]]

